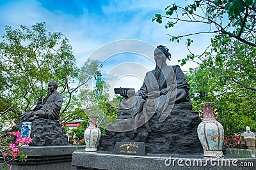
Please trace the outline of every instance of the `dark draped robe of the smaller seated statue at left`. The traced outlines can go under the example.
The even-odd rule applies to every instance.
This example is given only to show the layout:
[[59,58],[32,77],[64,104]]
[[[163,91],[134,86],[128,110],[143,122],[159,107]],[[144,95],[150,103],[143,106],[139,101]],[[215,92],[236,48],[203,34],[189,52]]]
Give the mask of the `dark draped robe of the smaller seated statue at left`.
[[62,101],[63,97],[61,96],[61,94],[57,91],[54,91],[45,97],[42,103],[42,108],[40,108],[39,110],[30,110],[22,113],[22,115],[20,115],[20,121],[25,122],[32,120],[33,118],[31,119],[31,115],[36,111],[41,111],[45,113],[45,118],[47,119],[60,120],[60,110]]

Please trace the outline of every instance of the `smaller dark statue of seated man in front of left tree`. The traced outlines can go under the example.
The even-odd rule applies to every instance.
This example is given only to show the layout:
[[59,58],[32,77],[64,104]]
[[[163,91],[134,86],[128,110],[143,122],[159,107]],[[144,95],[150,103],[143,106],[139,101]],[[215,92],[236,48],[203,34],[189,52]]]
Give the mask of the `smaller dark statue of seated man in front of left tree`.
[[29,110],[20,115],[20,122],[33,121],[36,118],[45,118],[51,120],[60,120],[60,110],[63,98],[57,92],[58,83],[52,81],[48,85],[47,96],[42,100],[38,99],[38,103],[34,110]]

